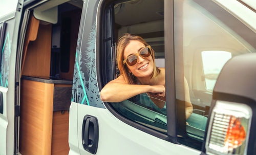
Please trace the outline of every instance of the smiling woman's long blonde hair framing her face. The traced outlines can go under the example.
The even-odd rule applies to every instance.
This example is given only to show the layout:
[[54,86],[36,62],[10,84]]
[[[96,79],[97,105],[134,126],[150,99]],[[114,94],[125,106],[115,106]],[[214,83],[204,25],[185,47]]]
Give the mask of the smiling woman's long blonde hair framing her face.
[[[142,37],[137,36],[137,35],[132,35],[130,33],[125,33],[118,40],[118,43],[117,43],[117,66],[118,66],[118,69],[120,71],[120,75],[123,75],[126,82],[128,82],[129,84],[137,84],[138,79],[134,75],[129,76],[129,69],[126,66],[127,64],[126,63],[123,64],[124,49],[130,43],[131,40],[140,41],[145,46],[148,46],[148,43],[146,43],[146,41]],[[152,49],[152,55],[151,56],[152,56],[152,59],[153,59],[153,62],[154,62],[154,70],[151,74],[151,78],[153,78],[153,77],[156,77],[160,73],[160,70],[155,65],[155,54],[154,54],[153,49]]]

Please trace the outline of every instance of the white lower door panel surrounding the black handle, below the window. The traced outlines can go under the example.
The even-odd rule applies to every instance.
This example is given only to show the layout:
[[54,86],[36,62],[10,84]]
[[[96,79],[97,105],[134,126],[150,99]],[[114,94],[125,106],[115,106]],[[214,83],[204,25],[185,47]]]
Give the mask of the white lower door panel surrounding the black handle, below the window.
[[[162,140],[116,118],[108,109],[77,104],[78,118],[97,117],[99,144],[96,154],[200,154],[199,150]],[[82,146],[82,119],[78,119],[78,145],[81,154],[91,154]]]

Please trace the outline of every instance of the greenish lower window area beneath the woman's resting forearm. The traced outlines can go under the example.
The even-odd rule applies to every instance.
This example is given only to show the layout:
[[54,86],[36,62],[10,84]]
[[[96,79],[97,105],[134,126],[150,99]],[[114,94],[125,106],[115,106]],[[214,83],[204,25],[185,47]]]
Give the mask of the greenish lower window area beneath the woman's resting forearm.
[[137,95],[120,103],[112,103],[113,107],[126,118],[166,133],[166,106],[159,108],[156,104],[165,104],[165,101],[145,94]]

